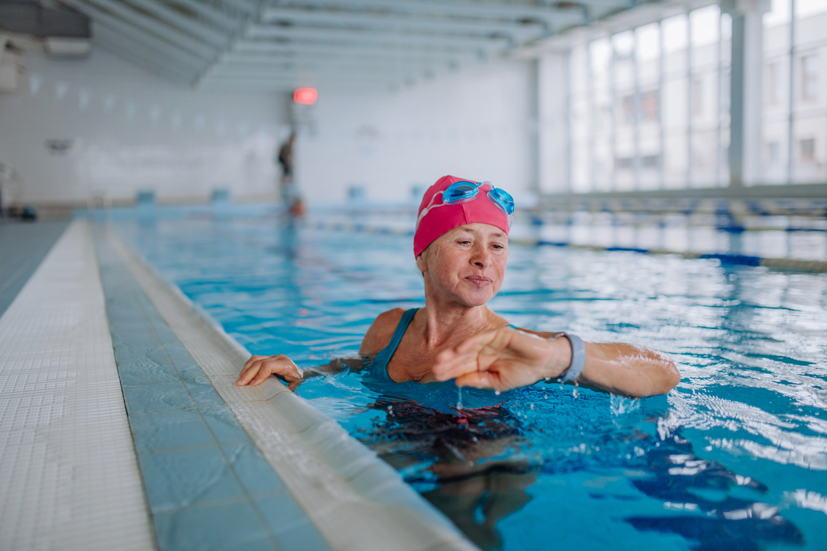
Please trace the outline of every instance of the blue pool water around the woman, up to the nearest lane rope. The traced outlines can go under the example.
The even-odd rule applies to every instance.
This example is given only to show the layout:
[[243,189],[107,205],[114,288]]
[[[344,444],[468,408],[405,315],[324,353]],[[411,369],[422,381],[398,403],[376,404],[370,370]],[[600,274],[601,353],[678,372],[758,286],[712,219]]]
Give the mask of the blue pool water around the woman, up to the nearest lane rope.
[[345,358],[299,395],[482,549],[827,549],[827,274],[512,245],[495,311],[662,350],[681,384],[638,401],[544,383],[460,395],[354,359],[377,314],[423,306],[409,236],[265,209],[116,227],[251,353]]

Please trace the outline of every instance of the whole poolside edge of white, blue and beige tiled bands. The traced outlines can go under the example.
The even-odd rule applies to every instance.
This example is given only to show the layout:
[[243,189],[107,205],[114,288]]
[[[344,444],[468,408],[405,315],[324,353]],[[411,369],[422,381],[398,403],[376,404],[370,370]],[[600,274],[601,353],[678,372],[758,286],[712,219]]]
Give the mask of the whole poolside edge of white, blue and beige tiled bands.
[[275,379],[234,387],[246,351],[117,236],[30,228],[40,267],[0,318],[0,549],[475,549]]

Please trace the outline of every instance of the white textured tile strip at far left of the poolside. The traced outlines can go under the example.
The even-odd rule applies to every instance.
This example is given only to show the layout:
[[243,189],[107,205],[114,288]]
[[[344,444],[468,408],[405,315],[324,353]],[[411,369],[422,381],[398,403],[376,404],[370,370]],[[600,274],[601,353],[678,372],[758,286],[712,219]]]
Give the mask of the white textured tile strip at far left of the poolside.
[[0,549],[155,549],[88,223],[0,318]]

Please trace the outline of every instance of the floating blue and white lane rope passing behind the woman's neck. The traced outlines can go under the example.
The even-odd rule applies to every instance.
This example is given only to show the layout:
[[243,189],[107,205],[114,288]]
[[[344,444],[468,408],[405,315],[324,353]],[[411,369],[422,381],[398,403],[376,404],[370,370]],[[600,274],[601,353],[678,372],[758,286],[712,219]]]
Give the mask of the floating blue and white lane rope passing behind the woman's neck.
[[[362,226],[356,224],[341,224],[332,222],[317,222],[311,225],[316,230],[332,231],[356,231],[359,233],[389,234],[389,235],[414,235],[413,231],[394,228],[381,228],[376,226]],[[684,259],[717,259],[721,264],[740,266],[767,266],[767,268],[786,268],[802,272],[827,272],[827,261],[805,260],[805,259],[784,259],[752,256],[748,254],[719,254],[719,253],[696,253],[676,251],[668,249],[641,249],[637,247],[605,247],[603,245],[586,245],[570,243],[568,241],[547,241],[535,239],[513,239],[509,243],[528,246],[553,246],[571,247],[572,249],[586,249],[606,252],[632,252],[639,254],[677,254]]]

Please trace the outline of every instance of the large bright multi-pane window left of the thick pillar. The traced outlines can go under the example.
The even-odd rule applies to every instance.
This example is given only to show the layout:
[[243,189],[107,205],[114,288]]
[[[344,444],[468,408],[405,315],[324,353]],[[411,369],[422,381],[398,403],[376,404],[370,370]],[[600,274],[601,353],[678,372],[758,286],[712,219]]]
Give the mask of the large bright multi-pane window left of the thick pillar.
[[572,189],[725,185],[729,16],[718,6],[577,45]]

